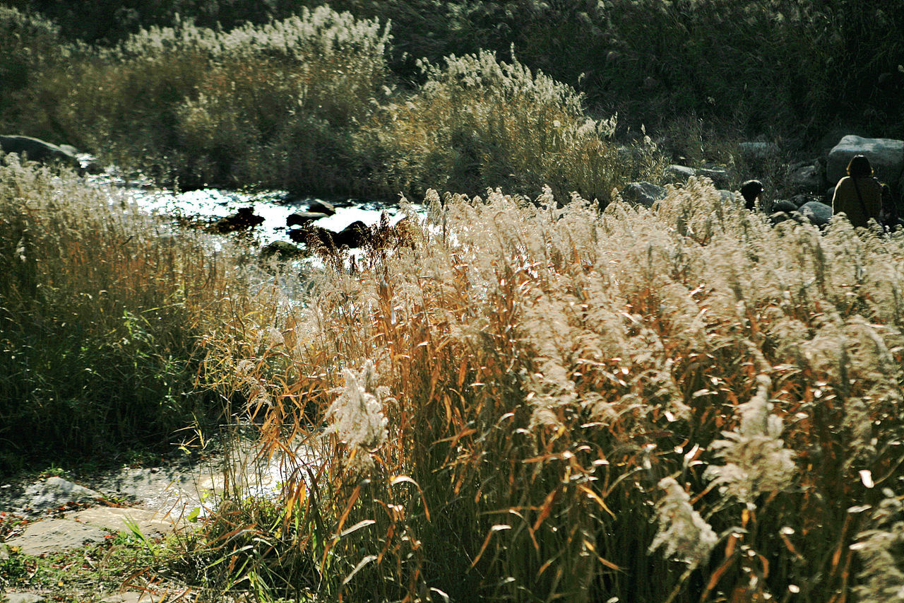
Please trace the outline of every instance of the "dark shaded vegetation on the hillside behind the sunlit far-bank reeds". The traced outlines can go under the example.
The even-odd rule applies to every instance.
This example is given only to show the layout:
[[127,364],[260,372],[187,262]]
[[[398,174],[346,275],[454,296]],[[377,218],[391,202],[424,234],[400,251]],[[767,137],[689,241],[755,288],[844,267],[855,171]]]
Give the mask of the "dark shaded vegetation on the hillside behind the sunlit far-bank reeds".
[[[178,15],[230,29],[300,14],[317,0],[287,3],[97,0],[78,7],[7,0],[42,12],[63,32],[114,43]],[[904,7],[897,0],[334,0],[338,11],[391,23],[389,64],[402,81],[416,62],[511,49],[532,71],[583,92],[625,126],[659,129],[673,114],[739,124],[749,136],[818,138],[835,120],[901,132],[898,66]],[[97,13],[98,18],[85,17]],[[110,16],[117,14],[115,20]],[[884,134],[880,131],[878,134]]]

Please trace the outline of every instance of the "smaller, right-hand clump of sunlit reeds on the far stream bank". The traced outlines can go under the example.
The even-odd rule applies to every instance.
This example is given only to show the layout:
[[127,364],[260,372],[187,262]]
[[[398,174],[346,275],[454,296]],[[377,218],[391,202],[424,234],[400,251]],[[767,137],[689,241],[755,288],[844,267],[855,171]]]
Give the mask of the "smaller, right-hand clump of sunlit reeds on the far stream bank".
[[421,64],[427,81],[365,124],[360,155],[383,189],[473,193],[553,187],[607,202],[613,187],[656,172],[654,148],[619,149],[612,120],[585,116],[570,86],[492,53]]

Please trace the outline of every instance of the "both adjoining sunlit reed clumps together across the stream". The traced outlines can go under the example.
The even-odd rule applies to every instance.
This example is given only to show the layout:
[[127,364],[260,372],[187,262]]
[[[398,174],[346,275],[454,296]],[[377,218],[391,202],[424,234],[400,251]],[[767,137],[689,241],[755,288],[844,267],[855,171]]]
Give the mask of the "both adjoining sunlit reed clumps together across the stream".
[[377,21],[326,7],[230,32],[178,24],[73,49],[16,98],[30,133],[183,187],[394,198],[550,184],[562,200],[607,200],[653,173],[648,141],[619,154],[615,120],[590,120],[570,86],[492,53],[423,62],[416,91],[393,91],[388,41]]

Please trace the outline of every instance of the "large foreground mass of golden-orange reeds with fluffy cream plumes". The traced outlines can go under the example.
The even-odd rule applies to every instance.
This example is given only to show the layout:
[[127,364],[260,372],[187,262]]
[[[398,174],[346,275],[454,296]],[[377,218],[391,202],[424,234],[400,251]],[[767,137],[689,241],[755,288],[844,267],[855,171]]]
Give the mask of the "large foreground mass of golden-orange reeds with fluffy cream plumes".
[[211,378],[257,392],[261,455],[315,461],[276,501],[223,503],[196,579],[263,600],[899,592],[904,239],[772,227],[695,179],[652,210],[426,203],[413,248],[208,340]]

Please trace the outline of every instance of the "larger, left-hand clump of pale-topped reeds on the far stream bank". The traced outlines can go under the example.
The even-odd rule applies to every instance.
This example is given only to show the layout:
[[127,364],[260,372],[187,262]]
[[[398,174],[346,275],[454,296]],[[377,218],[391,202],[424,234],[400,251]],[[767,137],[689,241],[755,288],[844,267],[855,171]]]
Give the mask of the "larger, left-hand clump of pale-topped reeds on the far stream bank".
[[349,186],[347,139],[381,94],[386,41],[380,24],[327,8],[229,33],[152,28],[114,48],[82,49],[24,102],[34,133],[62,129],[185,187],[328,193]]

